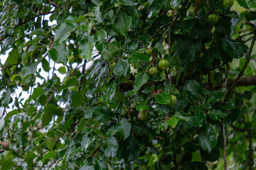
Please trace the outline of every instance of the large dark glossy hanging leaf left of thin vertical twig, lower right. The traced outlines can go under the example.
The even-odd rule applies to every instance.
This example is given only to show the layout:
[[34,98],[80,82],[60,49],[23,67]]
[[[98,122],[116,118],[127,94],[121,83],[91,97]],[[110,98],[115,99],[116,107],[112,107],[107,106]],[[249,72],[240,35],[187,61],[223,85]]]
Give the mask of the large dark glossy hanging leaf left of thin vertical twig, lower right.
[[203,148],[203,150],[210,152],[214,146],[217,145],[217,135],[209,124],[205,124],[200,128],[197,134],[200,147]]

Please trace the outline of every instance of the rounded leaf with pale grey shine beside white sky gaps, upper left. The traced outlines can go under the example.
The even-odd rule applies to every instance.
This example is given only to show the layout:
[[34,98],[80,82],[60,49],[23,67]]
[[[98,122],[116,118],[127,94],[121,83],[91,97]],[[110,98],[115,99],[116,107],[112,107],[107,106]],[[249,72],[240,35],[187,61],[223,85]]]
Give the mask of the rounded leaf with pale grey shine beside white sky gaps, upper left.
[[63,44],[57,45],[49,50],[49,56],[56,63],[66,65],[68,63],[68,49]]

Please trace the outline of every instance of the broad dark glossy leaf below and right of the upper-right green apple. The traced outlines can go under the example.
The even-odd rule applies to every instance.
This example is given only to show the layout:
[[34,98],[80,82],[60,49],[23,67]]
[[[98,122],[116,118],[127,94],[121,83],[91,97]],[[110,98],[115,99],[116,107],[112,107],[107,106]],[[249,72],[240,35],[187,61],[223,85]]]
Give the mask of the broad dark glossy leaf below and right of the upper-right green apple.
[[232,39],[221,39],[221,47],[233,58],[243,57],[243,45]]

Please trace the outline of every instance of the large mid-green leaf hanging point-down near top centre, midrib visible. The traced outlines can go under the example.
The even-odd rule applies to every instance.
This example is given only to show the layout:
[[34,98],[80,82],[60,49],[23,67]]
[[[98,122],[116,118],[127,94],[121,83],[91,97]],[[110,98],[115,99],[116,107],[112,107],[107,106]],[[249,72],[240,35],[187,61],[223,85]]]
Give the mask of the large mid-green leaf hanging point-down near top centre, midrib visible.
[[117,27],[117,31],[122,36],[127,36],[127,29],[131,26],[131,15],[127,13],[125,10],[120,10],[118,12],[118,18],[115,22],[115,25]]

